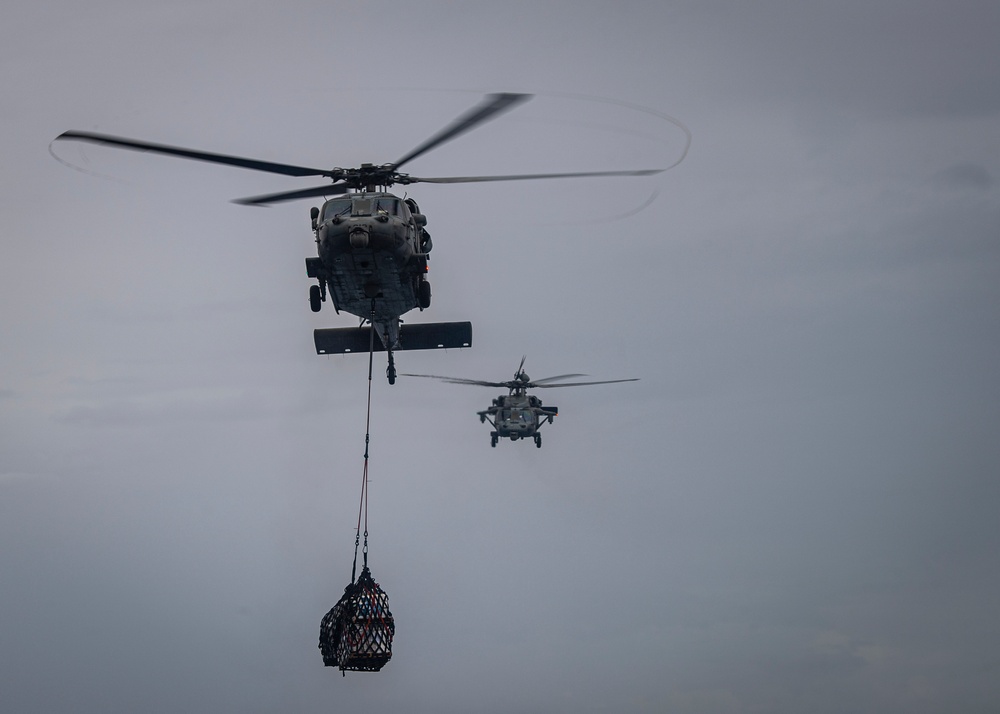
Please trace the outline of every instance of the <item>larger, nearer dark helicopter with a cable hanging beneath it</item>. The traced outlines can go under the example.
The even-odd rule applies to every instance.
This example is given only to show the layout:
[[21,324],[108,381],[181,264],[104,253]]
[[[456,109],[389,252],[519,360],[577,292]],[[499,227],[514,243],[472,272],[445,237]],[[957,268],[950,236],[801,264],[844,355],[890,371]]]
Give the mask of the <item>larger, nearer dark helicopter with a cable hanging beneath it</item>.
[[[432,242],[430,234],[424,228],[427,217],[420,212],[416,201],[389,193],[389,188],[395,184],[405,186],[411,183],[650,176],[664,170],[437,178],[420,178],[400,173],[401,167],[418,156],[496,118],[530,97],[529,94],[489,94],[480,104],[393,163],[361,164],[358,168],[349,169],[318,169],[273,163],[87,131],[67,131],[55,140],[103,144],[286,176],[323,176],[331,179],[332,184],[251,196],[236,199],[234,203],[265,206],[302,198],[328,197],[322,208],[313,207],[310,211],[318,255],[306,258],[306,275],[316,280],[316,284],[309,290],[309,304],[313,312],[319,312],[329,297],[337,313],[343,310],[355,315],[361,318],[361,324],[357,328],[315,330],[313,338],[316,352],[335,354],[384,350],[388,353],[389,362],[386,376],[389,383],[393,384],[396,380],[394,351],[470,347],[472,323],[402,324],[401,317],[405,313],[414,308],[424,310],[430,307],[431,288],[427,280],[427,261]],[[371,327],[366,328],[366,323]],[[378,340],[375,340],[375,335]]]

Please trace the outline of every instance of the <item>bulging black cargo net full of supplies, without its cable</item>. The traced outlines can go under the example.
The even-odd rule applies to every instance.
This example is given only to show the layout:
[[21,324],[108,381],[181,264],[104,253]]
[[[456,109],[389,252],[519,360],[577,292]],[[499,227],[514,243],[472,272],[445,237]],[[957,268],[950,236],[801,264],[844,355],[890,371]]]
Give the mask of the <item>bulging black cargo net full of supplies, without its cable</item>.
[[358,581],[344,589],[344,596],[320,623],[323,664],[341,671],[377,672],[392,657],[395,631],[389,597],[366,565]]

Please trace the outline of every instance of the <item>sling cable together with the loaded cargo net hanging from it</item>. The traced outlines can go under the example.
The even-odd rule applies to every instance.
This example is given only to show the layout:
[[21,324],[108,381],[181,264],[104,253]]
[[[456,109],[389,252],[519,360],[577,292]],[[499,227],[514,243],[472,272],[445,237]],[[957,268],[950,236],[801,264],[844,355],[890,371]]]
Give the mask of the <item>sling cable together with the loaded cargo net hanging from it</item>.
[[[323,618],[319,628],[319,648],[323,664],[356,672],[377,672],[392,658],[395,621],[389,611],[389,598],[368,570],[368,444],[371,439],[372,361],[375,353],[375,301],[372,301],[372,325],[368,349],[368,415],[365,419],[365,466],[361,480],[361,503],[354,536],[354,563],[351,583],[344,595]],[[361,576],[355,580],[361,521],[364,514],[365,543]]]

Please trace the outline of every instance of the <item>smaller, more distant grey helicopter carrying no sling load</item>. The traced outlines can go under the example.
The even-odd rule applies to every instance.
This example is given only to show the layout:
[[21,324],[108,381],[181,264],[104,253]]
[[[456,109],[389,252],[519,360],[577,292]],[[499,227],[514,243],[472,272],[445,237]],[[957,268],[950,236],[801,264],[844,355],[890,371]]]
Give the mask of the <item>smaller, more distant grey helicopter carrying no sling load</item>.
[[608,379],[599,382],[562,382],[553,384],[563,379],[574,377],[586,377],[585,374],[559,374],[555,377],[543,377],[534,381],[528,377],[524,371],[525,357],[521,358],[514,373],[514,379],[508,382],[487,382],[480,379],[464,379],[462,377],[441,377],[436,374],[407,374],[404,377],[427,377],[429,379],[440,379],[451,384],[471,384],[480,387],[505,387],[508,390],[506,395],[500,395],[493,400],[489,409],[476,412],[479,415],[480,423],[489,420],[493,431],[490,432],[490,446],[496,447],[497,442],[502,438],[511,441],[527,439],[531,437],[535,441],[535,446],[542,448],[542,435],[539,429],[544,424],[551,424],[553,419],[559,414],[559,408],[553,406],[543,406],[542,400],[528,394],[529,389],[550,389],[553,387],[582,387],[590,384],[617,384],[618,382],[637,382],[638,378],[632,379]]

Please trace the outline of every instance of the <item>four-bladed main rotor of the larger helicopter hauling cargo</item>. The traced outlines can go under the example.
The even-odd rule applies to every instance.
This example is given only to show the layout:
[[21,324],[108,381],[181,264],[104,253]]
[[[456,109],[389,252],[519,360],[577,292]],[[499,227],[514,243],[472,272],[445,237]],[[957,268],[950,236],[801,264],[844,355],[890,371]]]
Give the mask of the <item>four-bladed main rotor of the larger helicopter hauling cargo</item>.
[[664,169],[641,169],[637,171],[582,171],[570,173],[541,174],[508,174],[501,176],[442,176],[418,177],[401,173],[400,167],[438,146],[474,129],[475,127],[496,118],[503,112],[531,98],[530,94],[500,93],[488,94],[477,106],[455,119],[443,130],[432,136],[417,148],[391,164],[362,164],[358,168],[318,169],[295,164],[282,164],[272,161],[262,161],[242,156],[217,154],[208,151],[186,149],[168,144],[157,144],[111,134],[99,134],[88,131],[66,131],[56,137],[56,141],[83,141],[101,144],[119,149],[144,151],[166,156],[176,156],[183,159],[205,161],[225,166],[282,174],[285,176],[323,176],[333,181],[324,186],[313,186],[294,191],[282,191],[260,196],[235,199],[233,202],[245,206],[263,206],[284,201],[294,201],[300,198],[314,196],[336,196],[351,190],[373,190],[377,186],[390,187],[395,184],[408,185],[412,183],[480,183],[485,181],[521,181],[526,179],[581,178],[597,176],[651,176]]

